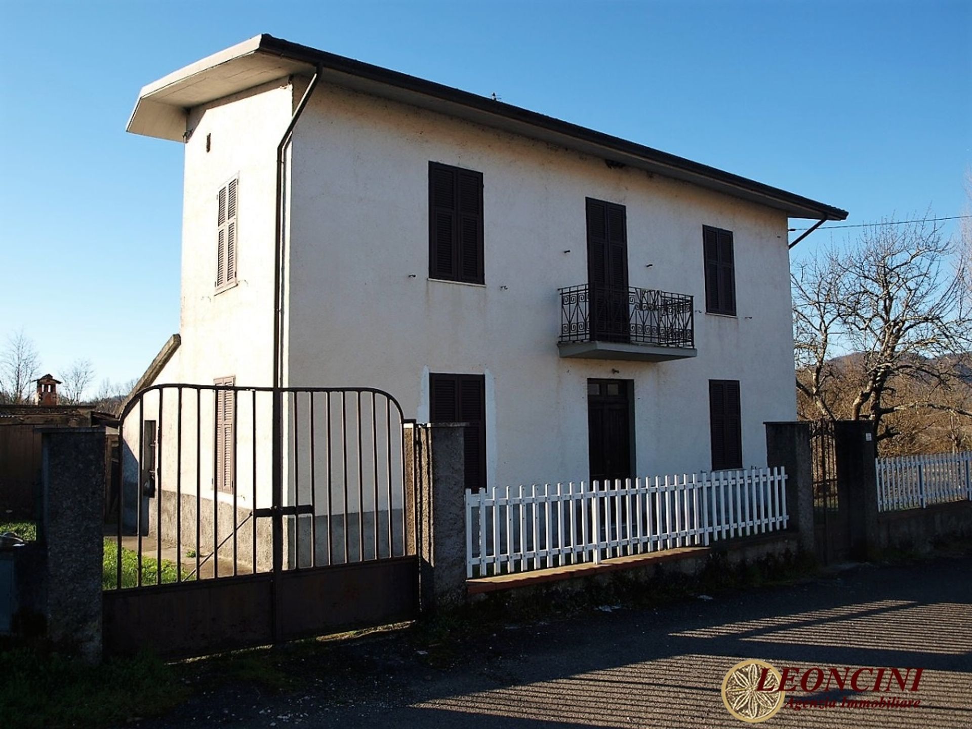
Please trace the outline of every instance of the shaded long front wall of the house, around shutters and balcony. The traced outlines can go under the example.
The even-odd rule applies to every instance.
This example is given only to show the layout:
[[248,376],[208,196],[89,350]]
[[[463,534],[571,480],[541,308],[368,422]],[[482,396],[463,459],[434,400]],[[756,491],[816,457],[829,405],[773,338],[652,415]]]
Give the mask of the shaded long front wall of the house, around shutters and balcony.
[[[382,388],[422,422],[429,371],[485,373],[500,485],[586,479],[590,377],[634,380],[642,475],[711,467],[709,379],[741,381],[745,466],[765,421],[795,419],[784,213],[323,85],[292,155],[287,384]],[[430,160],[483,173],[485,286],[428,278]],[[695,296],[697,358],[558,356],[588,196],[627,208],[631,286]],[[704,313],[704,225],[734,232],[736,318]]]

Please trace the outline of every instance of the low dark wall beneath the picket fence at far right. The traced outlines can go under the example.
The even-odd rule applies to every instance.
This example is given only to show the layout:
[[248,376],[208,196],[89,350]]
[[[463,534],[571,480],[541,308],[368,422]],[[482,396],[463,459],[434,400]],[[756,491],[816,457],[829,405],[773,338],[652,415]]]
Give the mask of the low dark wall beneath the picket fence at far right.
[[878,514],[881,549],[930,551],[935,542],[972,537],[972,502],[937,503],[926,508]]

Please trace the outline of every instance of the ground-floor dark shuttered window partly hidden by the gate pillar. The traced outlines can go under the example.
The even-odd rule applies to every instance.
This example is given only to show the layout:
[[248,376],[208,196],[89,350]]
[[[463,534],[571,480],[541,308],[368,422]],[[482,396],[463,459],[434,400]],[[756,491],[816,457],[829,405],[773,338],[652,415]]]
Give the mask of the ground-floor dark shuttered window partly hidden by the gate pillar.
[[430,374],[429,419],[469,423],[464,434],[466,488],[486,486],[486,378],[481,374]]

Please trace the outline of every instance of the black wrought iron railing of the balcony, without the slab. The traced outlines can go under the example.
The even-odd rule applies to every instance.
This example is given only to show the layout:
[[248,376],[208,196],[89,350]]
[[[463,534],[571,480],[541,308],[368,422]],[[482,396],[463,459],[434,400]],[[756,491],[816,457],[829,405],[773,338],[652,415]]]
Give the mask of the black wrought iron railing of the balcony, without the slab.
[[560,343],[620,342],[695,346],[692,296],[652,289],[560,289]]

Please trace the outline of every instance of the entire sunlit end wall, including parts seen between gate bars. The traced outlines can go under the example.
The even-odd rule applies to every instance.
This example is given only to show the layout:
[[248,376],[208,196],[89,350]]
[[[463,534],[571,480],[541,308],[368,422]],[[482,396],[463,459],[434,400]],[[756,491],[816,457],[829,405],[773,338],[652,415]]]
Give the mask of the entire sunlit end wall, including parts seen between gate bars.
[[[273,260],[276,215],[276,151],[293,112],[293,87],[288,79],[198,107],[191,111],[192,130],[186,143],[183,201],[182,292],[180,333],[182,343],[172,361],[153,384],[213,385],[233,376],[238,386],[269,386],[273,366]],[[206,150],[206,137],[209,151]],[[217,293],[217,195],[238,177],[236,286]],[[165,390],[160,485],[176,488],[176,398]],[[145,418],[156,419],[157,394],[145,399]],[[257,399],[259,505],[270,503],[269,453],[271,400]],[[214,493],[213,393],[202,391],[199,409],[202,451],[195,469],[195,391],[184,391],[183,468],[180,489],[194,494],[198,477],[200,496]],[[254,503],[253,401],[240,393],[237,409],[238,503]],[[137,443],[137,410],[125,422],[125,441]],[[126,471],[127,472],[127,471]],[[137,474],[136,474],[137,475]],[[219,499],[232,503],[220,493]]]

